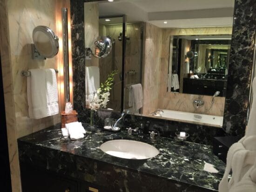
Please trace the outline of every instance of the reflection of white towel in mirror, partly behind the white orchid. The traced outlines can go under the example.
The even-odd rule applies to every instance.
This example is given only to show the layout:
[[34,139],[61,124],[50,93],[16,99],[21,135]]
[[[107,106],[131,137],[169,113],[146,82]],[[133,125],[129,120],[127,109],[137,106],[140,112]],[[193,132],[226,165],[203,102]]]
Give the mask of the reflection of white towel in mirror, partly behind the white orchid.
[[100,87],[100,68],[98,66],[87,66],[85,68],[86,106],[90,106],[94,93]]

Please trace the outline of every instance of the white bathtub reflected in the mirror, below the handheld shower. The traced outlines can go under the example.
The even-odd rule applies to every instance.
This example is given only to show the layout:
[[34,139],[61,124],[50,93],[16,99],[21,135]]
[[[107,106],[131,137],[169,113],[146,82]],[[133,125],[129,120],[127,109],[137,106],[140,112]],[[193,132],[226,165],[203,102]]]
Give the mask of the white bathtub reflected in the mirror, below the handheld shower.
[[167,118],[175,121],[196,123],[206,126],[222,127],[223,117],[215,115],[204,115],[199,113],[188,113],[162,109],[163,112],[158,112],[154,115],[157,117]]

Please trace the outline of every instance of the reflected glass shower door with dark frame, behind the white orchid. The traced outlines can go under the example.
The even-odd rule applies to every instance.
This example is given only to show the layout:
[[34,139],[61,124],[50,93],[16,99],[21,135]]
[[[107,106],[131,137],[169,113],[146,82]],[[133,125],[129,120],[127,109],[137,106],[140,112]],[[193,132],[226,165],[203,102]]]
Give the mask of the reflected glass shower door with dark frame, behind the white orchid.
[[[110,19],[111,21],[106,23],[106,18]],[[112,21],[114,23],[111,23]],[[121,111],[123,109],[123,58],[125,50],[124,41],[120,34],[125,35],[125,25],[125,15],[100,17],[99,35],[107,36],[112,41],[111,53],[106,58],[99,60],[100,82],[105,82],[108,75],[113,70],[118,71],[118,74],[114,76],[114,85],[110,90],[110,98],[106,107],[115,111]]]

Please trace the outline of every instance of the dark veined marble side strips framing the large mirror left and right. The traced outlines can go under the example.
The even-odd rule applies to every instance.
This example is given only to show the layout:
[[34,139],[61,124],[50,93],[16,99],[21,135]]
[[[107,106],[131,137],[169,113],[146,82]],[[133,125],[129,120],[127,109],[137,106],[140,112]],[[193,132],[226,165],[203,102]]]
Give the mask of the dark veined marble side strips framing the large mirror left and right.
[[[98,0],[70,0],[74,109],[77,110],[78,118],[82,121],[88,121],[88,110],[85,109],[85,70],[83,70],[85,68],[83,3],[92,1]],[[227,96],[222,128],[229,134],[239,135],[244,133],[246,126],[251,66],[255,49],[256,1],[249,0],[246,4],[242,4],[241,0],[235,0],[233,18]],[[243,81],[239,81],[241,75],[244,77]]]

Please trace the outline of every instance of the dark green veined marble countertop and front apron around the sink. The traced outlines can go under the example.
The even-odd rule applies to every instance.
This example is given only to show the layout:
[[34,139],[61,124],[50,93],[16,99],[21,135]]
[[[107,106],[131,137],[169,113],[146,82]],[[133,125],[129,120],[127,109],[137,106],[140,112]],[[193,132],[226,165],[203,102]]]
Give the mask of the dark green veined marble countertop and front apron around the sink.
[[[143,160],[116,158],[99,148],[111,139],[142,141],[155,146],[160,153]],[[128,136],[124,131],[115,133],[97,129],[88,131],[84,139],[71,141],[64,139],[61,129],[56,126],[20,138],[18,143],[21,162],[119,191],[127,191],[133,187],[131,183],[136,185],[136,182],[143,186],[142,191],[145,187],[144,191],[147,191],[147,186],[154,189],[158,185],[147,183],[149,181],[160,182],[160,191],[168,191],[171,185],[176,188],[174,191],[214,191],[225,169],[225,164],[213,154],[211,146],[162,137],[151,140],[148,135],[139,139],[136,134]],[[205,163],[213,165],[219,172],[204,171]],[[111,180],[109,175],[115,179]],[[114,183],[109,185],[109,182]]]

